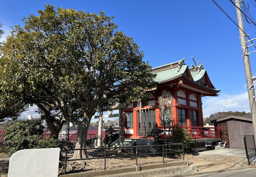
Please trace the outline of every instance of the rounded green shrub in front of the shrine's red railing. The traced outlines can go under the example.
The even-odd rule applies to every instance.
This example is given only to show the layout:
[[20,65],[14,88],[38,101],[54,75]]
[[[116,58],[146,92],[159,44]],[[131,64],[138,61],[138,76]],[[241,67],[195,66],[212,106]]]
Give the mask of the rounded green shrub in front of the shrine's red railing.
[[175,127],[173,127],[172,142],[183,143],[184,148],[187,149],[191,144],[191,136],[189,134],[189,131],[187,131],[187,129],[183,127],[180,127],[179,125],[176,125]]

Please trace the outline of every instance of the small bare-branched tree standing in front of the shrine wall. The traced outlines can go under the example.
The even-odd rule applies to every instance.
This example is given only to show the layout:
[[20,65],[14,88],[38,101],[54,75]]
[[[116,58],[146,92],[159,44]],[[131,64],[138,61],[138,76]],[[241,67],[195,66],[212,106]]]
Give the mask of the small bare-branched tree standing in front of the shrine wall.
[[160,109],[160,120],[161,120],[161,125],[163,126],[164,130],[164,138],[165,138],[165,143],[166,143],[166,127],[169,129],[169,142],[170,142],[170,129],[171,126],[173,125],[173,96],[160,96],[158,98],[158,107]]

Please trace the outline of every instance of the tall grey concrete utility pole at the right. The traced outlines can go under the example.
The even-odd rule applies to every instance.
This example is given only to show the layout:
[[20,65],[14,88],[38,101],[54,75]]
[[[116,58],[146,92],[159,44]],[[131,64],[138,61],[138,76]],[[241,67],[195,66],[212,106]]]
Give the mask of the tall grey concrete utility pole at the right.
[[241,13],[241,0],[236,0],[236,14],[237,14],[237,20],[239,25],[239,33],[240,33],[240,40],[241,40],[241,46],[242,46],[242,53],[243,53],[243,63],[245,66],[245,76],[246,76],[246,82],[247,82],[247,90],[248,90],[248,96],[249,96],[249,102],[250,102],[250,111],[252,114],[252,126],[254,130],[254,142],[256,142],[256,101],[255,101],[255,92],[253,87],[253,81],[252,81],[252,71],[250,68],[250,59],[249,59],[249,53],[248,53],[248,41],[246,40],[246,34],[244,33],[245,28],[243,26],[243,16]]

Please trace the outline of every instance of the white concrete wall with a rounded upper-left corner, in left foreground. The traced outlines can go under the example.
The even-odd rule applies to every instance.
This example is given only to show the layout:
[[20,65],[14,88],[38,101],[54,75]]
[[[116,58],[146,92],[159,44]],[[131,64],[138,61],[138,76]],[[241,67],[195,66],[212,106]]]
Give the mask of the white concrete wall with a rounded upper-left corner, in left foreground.
[[11,156],[8,177],[58,177],[59,148],[23,149]]

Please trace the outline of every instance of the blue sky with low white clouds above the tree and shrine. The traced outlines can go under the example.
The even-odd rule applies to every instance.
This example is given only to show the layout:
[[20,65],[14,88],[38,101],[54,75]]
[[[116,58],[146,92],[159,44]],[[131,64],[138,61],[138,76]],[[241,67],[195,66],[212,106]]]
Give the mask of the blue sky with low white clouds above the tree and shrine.
[[[237,21],[236,9],[229,0],[216,1]],[[0,22],[6,35],[10,31],[9,26],[22,25],[22,17],[37,15],[37,10],[44,9],[45,4],[91,13],[105,11],[106,15],[114,16],[118,30],[134,38],[145,52],[144,60],[149,61],[152,67],[184,57],[185,63],[191,65],[194,64],[191,59],[193,55],[196,61],[204,63],[213,85],[221,89],[218,97],[203,98],[204,107],[248,98],[238,28],[211,0],[2,1]],[[245,0],[245,4],[249,4],[249,11],[256,19],[256,2],[252,4],[251,0]],[[256,33],[244,22],[246,32],[255,38]],[[256,53],[250,55],[250,61],[255,76]],[[249,112],[249,102],[205,108],[204,117],[230,110]]]

